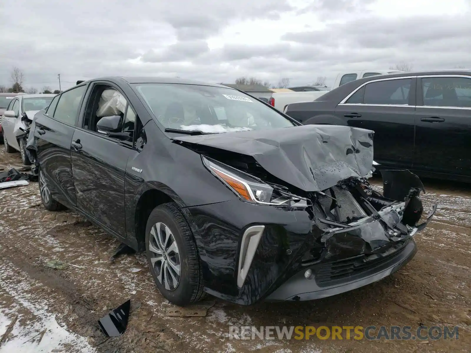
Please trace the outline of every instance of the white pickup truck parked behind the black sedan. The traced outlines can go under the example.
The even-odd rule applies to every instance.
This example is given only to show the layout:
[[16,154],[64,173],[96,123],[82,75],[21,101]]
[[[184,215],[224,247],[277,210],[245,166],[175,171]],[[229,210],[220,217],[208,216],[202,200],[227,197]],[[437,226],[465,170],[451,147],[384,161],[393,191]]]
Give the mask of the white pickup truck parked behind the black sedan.
[[[363,79],[369,76],[375,75],[387,75],[389,73],[400,72],[398,70],[360,70],[341,72],[337,75],[335,82],[331,89],[337,88],[347,82]],[[309,91],[309,92],[274,92],[268,99],[268,104],[274,106],[280,111],[284,111],[284,108],[288,104],[301,103],[301,102],[312,102],[325,94],[328,91]]]

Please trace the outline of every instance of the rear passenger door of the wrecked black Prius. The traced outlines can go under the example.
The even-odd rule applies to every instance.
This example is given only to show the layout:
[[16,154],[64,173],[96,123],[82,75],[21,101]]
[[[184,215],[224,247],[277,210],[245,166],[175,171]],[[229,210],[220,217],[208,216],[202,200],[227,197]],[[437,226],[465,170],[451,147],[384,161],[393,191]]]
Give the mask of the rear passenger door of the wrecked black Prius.
[[36,153],[54,198],[75,206],[70,145],[87,85],[56,96],[48,110],[35,119]]

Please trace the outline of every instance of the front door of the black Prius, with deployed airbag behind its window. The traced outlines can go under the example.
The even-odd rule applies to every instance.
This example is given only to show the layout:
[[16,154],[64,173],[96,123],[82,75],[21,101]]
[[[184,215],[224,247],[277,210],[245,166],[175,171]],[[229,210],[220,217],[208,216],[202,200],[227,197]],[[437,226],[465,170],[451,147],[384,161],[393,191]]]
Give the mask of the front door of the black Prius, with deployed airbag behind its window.
[[90,88],[81,127],[75,130],[72,139],[73,180],[77,207],[108,230],[125,238],[124,178],[128,159],[138,153],[133,148],[136,113],[130,104],[126,104],[124,112],[121,112],[122,131],[130,132],[129,139],[98,133],[98,102],[102,91],[110,88],[124,96],[118,87],[109,82],[106,85],[97,82]]

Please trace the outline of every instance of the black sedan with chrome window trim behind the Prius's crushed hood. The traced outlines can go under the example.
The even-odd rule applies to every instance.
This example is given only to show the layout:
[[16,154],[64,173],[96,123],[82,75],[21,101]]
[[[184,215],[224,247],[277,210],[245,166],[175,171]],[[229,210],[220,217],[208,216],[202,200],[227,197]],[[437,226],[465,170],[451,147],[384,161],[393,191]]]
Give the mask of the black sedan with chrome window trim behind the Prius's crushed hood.
[[470,70],[367,77],[285,113],[302,124],[373,130],[378,168],[471,182]]

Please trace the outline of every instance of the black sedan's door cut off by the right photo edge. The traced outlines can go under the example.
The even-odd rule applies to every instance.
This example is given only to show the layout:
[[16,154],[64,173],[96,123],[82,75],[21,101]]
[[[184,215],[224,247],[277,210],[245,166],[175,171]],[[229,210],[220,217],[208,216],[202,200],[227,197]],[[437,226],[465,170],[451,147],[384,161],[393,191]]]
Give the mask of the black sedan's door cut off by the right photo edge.
[[471,176],[471,77],[419,78],[414,169]]

